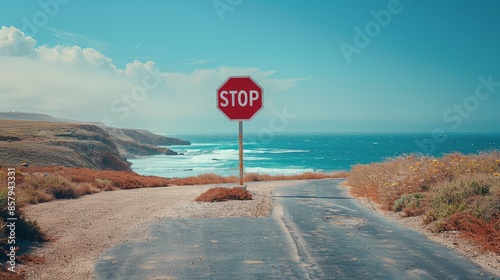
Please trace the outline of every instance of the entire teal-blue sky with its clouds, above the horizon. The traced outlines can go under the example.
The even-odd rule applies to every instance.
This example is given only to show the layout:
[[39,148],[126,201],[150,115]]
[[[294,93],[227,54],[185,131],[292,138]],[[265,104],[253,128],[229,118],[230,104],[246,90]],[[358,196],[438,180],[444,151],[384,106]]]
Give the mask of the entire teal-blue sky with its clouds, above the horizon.
[[[499,13],[494,0],[2,1],[0,111],[232,132],[215,91],[251,75],[266,99],[247,131],[499,132]],[[124,102],[145,75],[159,86]]]

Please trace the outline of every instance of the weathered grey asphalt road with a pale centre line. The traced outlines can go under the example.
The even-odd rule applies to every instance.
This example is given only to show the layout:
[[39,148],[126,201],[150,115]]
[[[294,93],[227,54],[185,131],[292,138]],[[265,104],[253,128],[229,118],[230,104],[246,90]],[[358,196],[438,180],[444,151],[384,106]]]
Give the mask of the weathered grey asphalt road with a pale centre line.
[[96,279],[495,279],[339,187],[274,192],[268,218],[178,219],[99,257]]

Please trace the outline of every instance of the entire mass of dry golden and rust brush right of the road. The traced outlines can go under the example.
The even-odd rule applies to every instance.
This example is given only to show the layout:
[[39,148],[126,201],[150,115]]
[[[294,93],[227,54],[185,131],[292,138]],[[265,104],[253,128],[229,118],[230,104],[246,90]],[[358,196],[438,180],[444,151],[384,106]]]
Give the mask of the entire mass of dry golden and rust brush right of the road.
[[423,222],[433,223],[436,231],[460,230],[499,253],[499,151],[441,158],[409,155],[356,165],[346,184],[354,195],[369,197],[386,210],[424,214]]

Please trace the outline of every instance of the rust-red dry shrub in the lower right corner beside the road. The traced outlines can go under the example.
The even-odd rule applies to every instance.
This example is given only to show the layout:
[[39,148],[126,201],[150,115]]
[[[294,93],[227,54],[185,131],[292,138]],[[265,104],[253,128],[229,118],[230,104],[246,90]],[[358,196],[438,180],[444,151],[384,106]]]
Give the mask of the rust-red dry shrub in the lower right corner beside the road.
[[466,213],[455,213],[447,218],[445,230],[457,230],[483,250],[500,254],[500,219],[489,222]]

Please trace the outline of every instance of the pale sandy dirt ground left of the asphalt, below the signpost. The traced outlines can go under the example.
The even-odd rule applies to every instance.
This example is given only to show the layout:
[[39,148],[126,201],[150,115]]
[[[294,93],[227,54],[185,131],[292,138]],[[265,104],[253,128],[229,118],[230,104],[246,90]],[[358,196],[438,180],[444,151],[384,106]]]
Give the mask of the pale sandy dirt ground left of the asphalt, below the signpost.
[[[272,190],[294,181],[248,185],[250,201],[198,203],[193,200],[214,186],[183,186],[118,190],[75,200],[58,200],[27,207],[54,241],[34,251],[45,264],[23,267],[27,279],[92,279],[98,256],[113,245],[131,241],[130,233],[163,219],[208,217],[267,217]],[[140,239],[142,236],[137,236]]]

